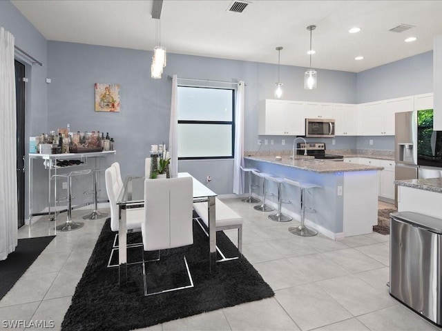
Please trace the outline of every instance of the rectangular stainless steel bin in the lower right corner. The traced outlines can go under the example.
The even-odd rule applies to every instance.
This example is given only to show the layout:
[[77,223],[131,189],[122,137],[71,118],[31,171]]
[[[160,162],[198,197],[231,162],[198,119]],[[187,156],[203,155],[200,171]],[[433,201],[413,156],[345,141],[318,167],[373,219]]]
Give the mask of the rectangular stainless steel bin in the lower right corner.
[[442,220],[390,214],[390,295],[441,326]]

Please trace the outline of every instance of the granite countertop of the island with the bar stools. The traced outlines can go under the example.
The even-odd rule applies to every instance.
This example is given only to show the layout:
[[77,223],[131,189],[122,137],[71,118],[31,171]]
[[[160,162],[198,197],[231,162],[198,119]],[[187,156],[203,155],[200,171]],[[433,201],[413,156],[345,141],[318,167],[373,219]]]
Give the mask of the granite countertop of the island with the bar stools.
[[286,165],[292,168],[297,168],[312,172],[319,172],[319,173],[383,170],[383,167],[345,163],[342,161],[314,159],[314,157],[305,157],[303,155],[296,155],[294,160],[292,160],[288,155],[284,155],[282,156],[282,159],[280,161],[276,161],[275,157],[269,157],[269,156],[253,156],[253,157],[250,156],[250,157],[244,157],[244,159]]

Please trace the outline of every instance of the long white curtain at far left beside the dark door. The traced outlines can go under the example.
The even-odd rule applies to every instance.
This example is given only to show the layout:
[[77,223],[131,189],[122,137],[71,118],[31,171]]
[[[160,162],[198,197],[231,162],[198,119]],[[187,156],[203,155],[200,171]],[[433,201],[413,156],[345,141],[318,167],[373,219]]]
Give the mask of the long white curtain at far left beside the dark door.
[[14,36],[0,28],[0,261],[17,246]]

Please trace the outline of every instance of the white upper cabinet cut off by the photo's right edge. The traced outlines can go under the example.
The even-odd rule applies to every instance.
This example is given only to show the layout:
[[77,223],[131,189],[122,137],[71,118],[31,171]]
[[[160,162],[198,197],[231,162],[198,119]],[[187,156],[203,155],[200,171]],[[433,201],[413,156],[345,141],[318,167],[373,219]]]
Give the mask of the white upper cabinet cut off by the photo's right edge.
[[442,35],[433,43],[433,129],[442,131]]

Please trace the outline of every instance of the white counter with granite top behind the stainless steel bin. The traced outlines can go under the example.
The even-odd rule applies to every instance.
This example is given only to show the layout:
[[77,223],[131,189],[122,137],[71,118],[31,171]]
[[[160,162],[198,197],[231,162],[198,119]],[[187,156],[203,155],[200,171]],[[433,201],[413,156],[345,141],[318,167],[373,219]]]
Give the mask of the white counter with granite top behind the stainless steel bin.
[[442,178],[406,179],[398,185],[398,212],[441,218]]

